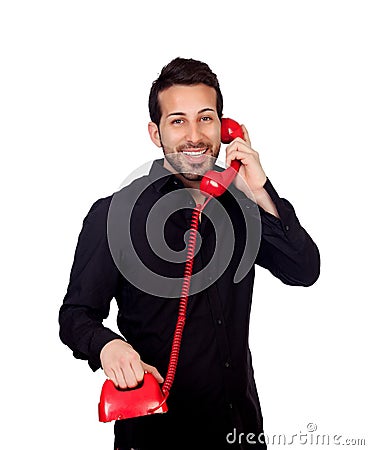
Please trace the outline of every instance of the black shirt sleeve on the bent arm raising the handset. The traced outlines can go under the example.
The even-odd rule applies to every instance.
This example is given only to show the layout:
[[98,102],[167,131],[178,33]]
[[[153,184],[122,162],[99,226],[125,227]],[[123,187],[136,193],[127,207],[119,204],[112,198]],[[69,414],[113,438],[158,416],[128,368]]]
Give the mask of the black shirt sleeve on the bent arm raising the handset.
[[273,200],[279,218],[259,208],[262,237],[256,264],[268,269],[285,284],[310,286],[320,273],[318,247],[301,226],[291,203],[279,197],[269,179],[264,188]]

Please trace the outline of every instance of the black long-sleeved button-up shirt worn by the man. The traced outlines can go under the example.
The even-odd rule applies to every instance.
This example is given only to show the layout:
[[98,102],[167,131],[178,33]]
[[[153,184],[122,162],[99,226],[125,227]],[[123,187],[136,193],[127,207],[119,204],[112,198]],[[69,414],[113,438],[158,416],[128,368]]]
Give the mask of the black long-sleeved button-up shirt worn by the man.
[[[246,435],[263,432],[248,344],[254,264],[299,286],[313,284],[320,269],[317,246],[292,205],[269,180],[264,187],[280,218],[233,185],[205,207],[169,410],[117,421],[116,447],[222,449],[241,448],[240,441],[243,448]],[[93,370],[101,367],[104,345],[124,337],[165,377],[194,206],[163,160],[155,161],[148,175],[92,205],[59,323],[62,342]],[[123,337],[102,323],[113,298]],[[236,441],[232,446],[227,435],[229,442]]]

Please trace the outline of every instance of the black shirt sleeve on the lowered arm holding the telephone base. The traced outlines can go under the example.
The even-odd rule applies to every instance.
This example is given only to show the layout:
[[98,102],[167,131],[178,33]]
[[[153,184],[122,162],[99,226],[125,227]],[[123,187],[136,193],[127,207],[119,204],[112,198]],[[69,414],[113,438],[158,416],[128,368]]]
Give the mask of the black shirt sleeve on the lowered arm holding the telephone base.
[[100,352],[113,339],[123,339],[103,326],[110,302],[119,293],[123,276],[110,254],[107,239],[109,197],[95,202],[83,220],[69,284],[59,310],[59,332],[76,358],[101,367]]

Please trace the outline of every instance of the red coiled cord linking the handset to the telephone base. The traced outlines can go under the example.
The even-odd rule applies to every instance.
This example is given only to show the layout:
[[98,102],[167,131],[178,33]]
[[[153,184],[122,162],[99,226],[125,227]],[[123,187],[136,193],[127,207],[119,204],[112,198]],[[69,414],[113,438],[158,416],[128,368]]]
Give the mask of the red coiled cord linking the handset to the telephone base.
[[188,239],[186,265],[185,265],[184,276],[183,276],[181,297],[179,300],[178,318],[177,318],[176,328],[174,330],[172,350],[170,353],[169,364],[168,364],[168,371],[167,371],[167,375],[165,377],[164,384],[162,387],[162,392],[164,394],[164,400],[158,406],[156,406],[155,408],[152,408],[150,410],[150,412],[155,411],[156,409],[160,408],[164,404],[164,402],[167,400],[167,398],[169,396],[169,391],[170,391],[173,381],[174,381],[174,376],[176,373],[177,363],[178,363],[179,350],[181,347],[183,328],[184,328],[184,324],[186,321],[188,294],[190,291],[192,267],[193,267],[195,249],[196,249],[197,230],[199,228],[199,217],[200,217],[201,211],[205,208],[206,204],[208,203],[208,201],[210,199],[211,199],[211,197],[208,197],[203,205],[197,204],[192,213],[191,229],[190,229],[190,235],[189,235],[189,239]]

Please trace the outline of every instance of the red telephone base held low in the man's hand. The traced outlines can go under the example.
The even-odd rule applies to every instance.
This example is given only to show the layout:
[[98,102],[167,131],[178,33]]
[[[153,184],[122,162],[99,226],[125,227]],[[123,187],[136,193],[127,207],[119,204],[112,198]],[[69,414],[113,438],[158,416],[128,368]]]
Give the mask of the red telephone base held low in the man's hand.
[[[133,389],[117,389],[105,380],[99,402],[99,421],[129,419],[168,411],[159,383],[151,373],[145,373],[143,384]],[[158,406],[163,404],[158,408]]]

